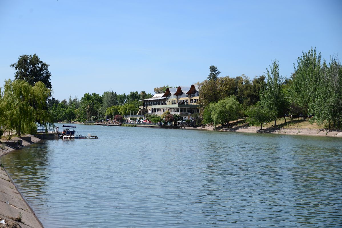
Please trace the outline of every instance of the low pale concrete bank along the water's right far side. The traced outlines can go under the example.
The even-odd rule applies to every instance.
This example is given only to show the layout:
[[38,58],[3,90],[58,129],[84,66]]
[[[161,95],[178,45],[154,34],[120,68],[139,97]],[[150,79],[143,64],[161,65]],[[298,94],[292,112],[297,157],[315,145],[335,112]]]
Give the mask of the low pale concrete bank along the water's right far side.
[[[204,127],[183,127],[188,130],[205,130],[216,131],[212,126]],[[220,128],[217,131],[226,132],[243,132],[243,133],[271,133],[271,134],[291,134],[302,136],[329,136],[329,137],[341,137],[342,131],[336,131],[332,129],[311,129],[311,128],[264,128],[260,130],[260,127],[232,127],[232,128]]]

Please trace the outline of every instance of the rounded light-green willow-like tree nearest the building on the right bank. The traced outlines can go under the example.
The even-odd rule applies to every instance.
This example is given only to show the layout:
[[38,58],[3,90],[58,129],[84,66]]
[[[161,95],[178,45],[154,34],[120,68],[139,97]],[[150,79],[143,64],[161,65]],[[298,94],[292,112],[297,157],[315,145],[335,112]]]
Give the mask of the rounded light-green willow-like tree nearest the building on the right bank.
[[230,121],[237,120],[241,105],[236,100],[234,95],[219,101],[218,103],[210,104],[211,118],[214,121],[214,125],[226,123],[227,127]]

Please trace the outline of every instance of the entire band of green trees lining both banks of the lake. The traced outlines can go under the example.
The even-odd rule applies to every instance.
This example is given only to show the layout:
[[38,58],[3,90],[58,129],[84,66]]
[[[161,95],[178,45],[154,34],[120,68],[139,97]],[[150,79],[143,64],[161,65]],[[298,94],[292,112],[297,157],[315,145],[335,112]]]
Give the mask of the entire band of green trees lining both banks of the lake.
[[[145,91],[131,91],[128,95],[105,91],[102,95],[86,93],[59,101],[51,97],[49,65],[36,54],[19,56],[10,67],[16,70],[15,80],[6,80],[0,88],[0,125],[5,130],[34,133],[36,123],[45,127],[56,121],[122,119],[123,115],[136,114],[140,100],[152,97]],[[294,72],[289,78],[279,75],[278,60],[272,61],[263,75],[252,80],[242,74],[237,77],[219,77],[215,66],[200,84],[199,113],[192,119],[197,125],[213,123],[229,126],[239,117],[248,117],[251,124],[274,121],[284,115],[310,116],[311,123],[341,127],[342,120],[342,67],[337,56],[329,62],[321,60],[321,53],[311,48],[298,57]],[[156,93],[171,87],[156,87]],[[176,86],[175,86],[176,87]],[[164,119],[174,121],[170,114]],[[153,122],[160,117],[147,116]],[[0,132],[1,133],[1,132]]]

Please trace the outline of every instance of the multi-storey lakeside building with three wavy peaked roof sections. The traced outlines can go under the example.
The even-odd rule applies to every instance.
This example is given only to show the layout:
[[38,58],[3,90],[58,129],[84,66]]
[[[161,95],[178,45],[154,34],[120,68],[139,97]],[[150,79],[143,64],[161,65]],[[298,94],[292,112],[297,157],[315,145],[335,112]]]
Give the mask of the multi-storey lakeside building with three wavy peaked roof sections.
[[171,114],[178,114],[183,119],[189,119],[194,113],[198,113],[199,85],[190,87],[178,86],[177,88],[167,88],[163,94],[155,94],[143,101],[143,106],[139,107],[139,115],[145,113],[161,116],[169,111]]

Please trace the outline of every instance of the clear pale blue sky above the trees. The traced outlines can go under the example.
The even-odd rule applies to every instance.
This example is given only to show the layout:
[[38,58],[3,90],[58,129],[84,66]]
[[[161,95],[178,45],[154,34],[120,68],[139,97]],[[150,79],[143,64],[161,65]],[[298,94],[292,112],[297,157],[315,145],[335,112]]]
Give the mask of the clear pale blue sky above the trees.
[[311,47],[342,58],[342,1],[0,0],[0,87],[20,55],[49,64],[53,97],[154,93],[219,76],[289,77]]

